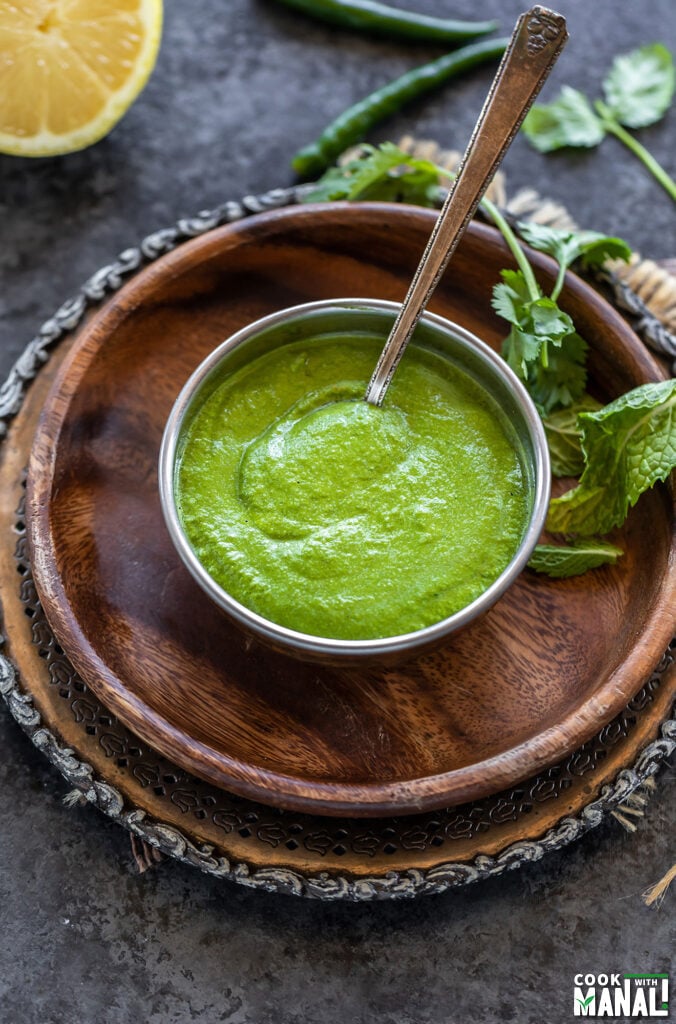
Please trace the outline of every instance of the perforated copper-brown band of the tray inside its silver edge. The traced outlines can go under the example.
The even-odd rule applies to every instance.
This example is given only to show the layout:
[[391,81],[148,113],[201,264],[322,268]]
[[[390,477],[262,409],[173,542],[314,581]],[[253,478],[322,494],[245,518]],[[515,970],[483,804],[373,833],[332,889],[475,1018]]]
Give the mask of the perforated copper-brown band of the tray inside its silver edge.
[[[215,857],[246,863],[251,870],[283,867],[313,878],[326,871],[372,878],[391,870],[429,870],[449,861],[471,863],[477,856],[495,857],[514,843],[539,840],[550,829],[559,828],[562,819],[580,815],[660,734],[676,694],[674,663],[659,687],[648,684],[648,699],[639,698],[627,719],[621,716],[602,729],[606,736],[603,742],[594,738],[574,753],[569,762],[564,759],[559,769],[546,769],[516,790],[508,787],[502,795],[488,798],[489,803],[497,802],[495,813],[480,802],[457,808],[457,817],[454,809],[398,820],[388,817],[357,823],[336,817],[329,822],[297,811],[266,814],[259,804],[234,801],[217,787],[209,786],[205,800],[204,783],[182,778],[179,768],[164,762],[133,733],[125,733],[119,724],[110,722],[105,706],[90,691],[83,693],[57,652],[56,659],[49,656],[45,644],[47,648],[51,644],[41,624],[26,613],[33,604],[32,588],[30,581],[16,572],[23,560],[20,547],[16,550],[22,475],[50,379],[73,341],[77,343],[66,339],[52,353],[0,446],[4,649],[31,694],[41,727],[50,729],[75,758],[91,765],[96,778],[115,786],[127,809],[134,808],[153,821],[177,828],[192,842],[207,844]],[[167,783],[167,775],[176,779],[176,785]],[[563,779],[565,785],[561,784]],[[471,826],[467,824],[469,817]],[[332,837],[338,830],[344,835],[337,843]],[[431,835],[442,842],[430,841]],[[288,838],[297,845],[289,845]]]

